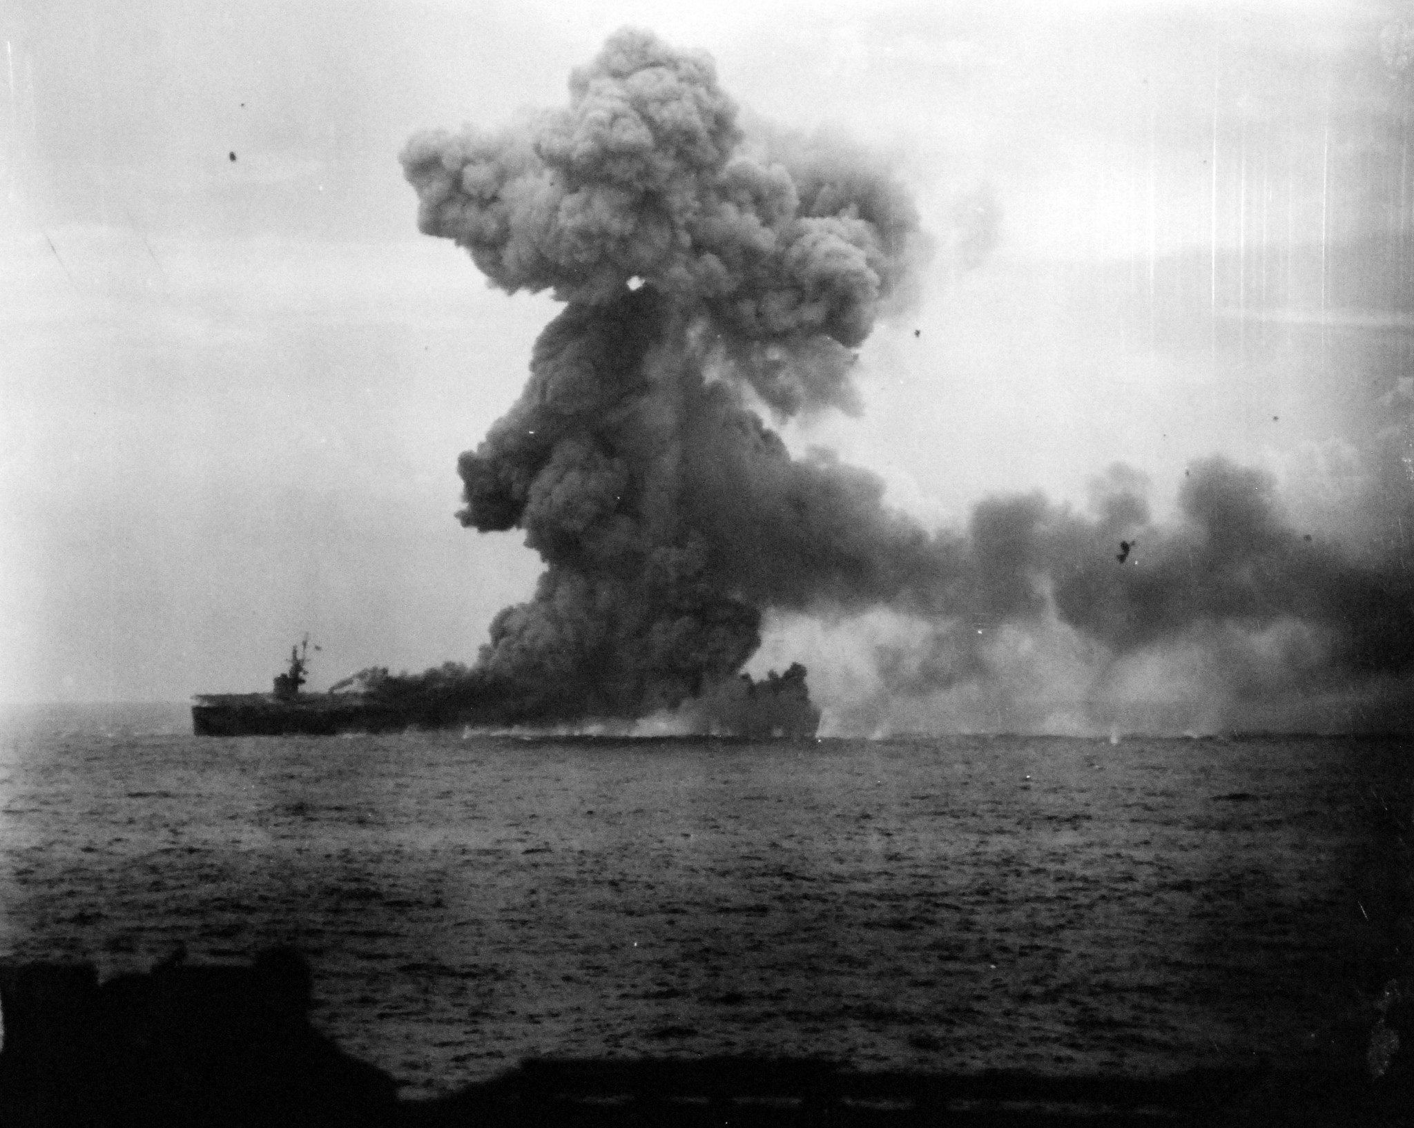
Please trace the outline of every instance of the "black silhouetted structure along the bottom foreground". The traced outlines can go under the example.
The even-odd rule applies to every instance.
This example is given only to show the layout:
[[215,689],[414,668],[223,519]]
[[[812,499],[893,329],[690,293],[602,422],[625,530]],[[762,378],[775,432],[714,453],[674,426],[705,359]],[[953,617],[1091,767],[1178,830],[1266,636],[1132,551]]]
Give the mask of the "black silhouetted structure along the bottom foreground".
[[431,1101],[308,1022],[294,951],[173,961],[102,985],[90,965],[0,965],[0,1124],[150,1125],[1403,1125],[1408,1050],[1359,1071],[1168,1079],[854,1073],[809,1059],[529,1062]]

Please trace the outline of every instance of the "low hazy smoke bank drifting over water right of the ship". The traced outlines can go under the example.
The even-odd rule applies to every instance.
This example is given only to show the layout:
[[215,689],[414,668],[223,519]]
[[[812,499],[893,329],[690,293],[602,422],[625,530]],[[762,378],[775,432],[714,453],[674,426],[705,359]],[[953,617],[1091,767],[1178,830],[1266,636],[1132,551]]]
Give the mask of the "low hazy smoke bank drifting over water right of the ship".
[[1403,478],[1374,483],[1374,529],[1356,544],[1299,531],[1267,475],[1220,458],[1189,468],[1168,524],[1150,520],[1143,483],[1120,466],[1090,517],[1039,495],[983,502],[946,613],[875,647],[884,690],[854,701],[848,727],[932,697],[915,715],[935,725],[960,711],[1022,729],[1407,729]]

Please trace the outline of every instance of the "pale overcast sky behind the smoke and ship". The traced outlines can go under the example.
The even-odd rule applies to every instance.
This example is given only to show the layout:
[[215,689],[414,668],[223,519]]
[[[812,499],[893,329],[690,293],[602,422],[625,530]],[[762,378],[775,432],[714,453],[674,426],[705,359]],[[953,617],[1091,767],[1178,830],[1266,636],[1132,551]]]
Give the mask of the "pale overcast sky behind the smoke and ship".
[[881,150],[933,235],[863,414],[792,447],[929,524],[1083,506],[1117,461],[1162,513],[1213,454],[1353,522],[1410,403],[1406,7],[18,0],[0,701],[267,688],[304,632],[317,688],[475,657],[539,561],[458,526],[455,459],[554,302],[420,236],[397,154],[561,105],[624,24],[711,54],[748,123]]

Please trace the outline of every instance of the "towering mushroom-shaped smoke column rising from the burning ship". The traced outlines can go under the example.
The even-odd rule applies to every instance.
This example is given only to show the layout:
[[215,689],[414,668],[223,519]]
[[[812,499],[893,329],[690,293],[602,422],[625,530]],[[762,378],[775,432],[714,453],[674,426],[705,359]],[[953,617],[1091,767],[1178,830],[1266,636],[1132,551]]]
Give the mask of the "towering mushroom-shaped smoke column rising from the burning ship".
[[908,291],[921,239],[863,154],[748,144],[703,55],[622,31],[570,95],[525,127],[420,134],[402,160],[423,232],[567,302],[460,461],[462,523],[525,529],[547,564],[478,677],[525,717],[639,717],[740,670],[762,605],[932,587],[937,544],[878,482],[792,461],[748,406],[848,406],[851,349]]

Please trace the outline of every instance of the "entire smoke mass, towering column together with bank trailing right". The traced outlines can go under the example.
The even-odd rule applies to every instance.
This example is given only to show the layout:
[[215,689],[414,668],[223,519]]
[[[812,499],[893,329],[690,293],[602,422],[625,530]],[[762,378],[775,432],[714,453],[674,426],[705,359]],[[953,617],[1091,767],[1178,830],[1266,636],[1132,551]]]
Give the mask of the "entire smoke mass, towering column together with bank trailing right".
[[[1035,493],[926,529],[765,420],[857,409],[854,351],[916,294],[929,237],[884,163],[745,129],[710,58],[641,31],[573,74],[567,107],[419,134],[402,160],[426,233],[564,302],[460,461],[462,523],[522,529],[546,563],[457,671],[472,697],[523,721],[660,714],[727,686],[764,616],[793,616],[819,646],[841,622],[847,646],[872,639],[875,688],[831,711],[846,732],[1414,721],[1407,428],[1374,435],[1355,536],[1299,527],[1223,458],[1189,466],[1168,524],[1116,465],[1089,513]],[[960,269],[995,239],[978,199],[950,237]]]

